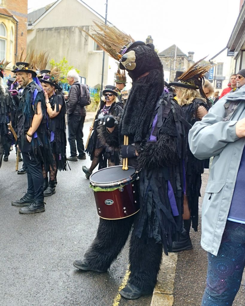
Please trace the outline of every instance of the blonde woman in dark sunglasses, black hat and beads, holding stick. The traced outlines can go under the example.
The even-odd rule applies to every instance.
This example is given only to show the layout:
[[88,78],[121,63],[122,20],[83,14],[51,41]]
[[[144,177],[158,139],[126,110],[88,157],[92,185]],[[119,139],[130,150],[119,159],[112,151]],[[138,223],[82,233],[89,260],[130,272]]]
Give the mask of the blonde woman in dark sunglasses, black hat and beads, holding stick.
[[[106,115],[118,116],[123,109],[116,103],[118,102],[118,94],[114,90],[115,86],[107,85],[103,90],[103,98],[100,101],[100,109],[96,114],[96,119],[100,119]],[[89,179],[93,170],[99,164],[99,169],[108,166],[116,166],[119,165],[119,152],[114,151],[108,146],[102,145],[100,138],[97,132],[98,122],[94,123],[94,131],[89,139],[89,144],[86,149],[86,152],[90,155],[90,159],[92,160],[92,164],[88,169],[86,166],[82,166],[82,170],[85,173],[87,179]],[[92,130],[92,127],[89,128]]]

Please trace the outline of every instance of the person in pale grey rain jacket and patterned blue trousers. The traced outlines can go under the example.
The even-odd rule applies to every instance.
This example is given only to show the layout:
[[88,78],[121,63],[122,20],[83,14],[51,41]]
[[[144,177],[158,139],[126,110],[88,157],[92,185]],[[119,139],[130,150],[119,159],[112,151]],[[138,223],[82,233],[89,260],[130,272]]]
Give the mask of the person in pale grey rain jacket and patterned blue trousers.
[[208,252],[202,306],[232,305],[245,265],[245,69],[236,80],[239,90],[189,132],[196,158],[214,156],[202,206],[201,245]]

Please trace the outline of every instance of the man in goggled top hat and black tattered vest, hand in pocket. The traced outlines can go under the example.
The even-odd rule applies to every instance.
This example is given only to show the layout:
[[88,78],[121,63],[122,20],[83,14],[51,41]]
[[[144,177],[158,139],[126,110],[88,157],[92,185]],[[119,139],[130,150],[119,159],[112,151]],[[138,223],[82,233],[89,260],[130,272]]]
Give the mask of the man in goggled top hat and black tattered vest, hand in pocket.
[[28,189],[20,200],[12,201],[21,214],[45,211],[43,197],[42,164],[47,169],[53,162],[47,130],[45,96],[36,83],[36,67],[32,63],[18,62],[12,72],[23,87],[17,110],[17,144],[27,169]]

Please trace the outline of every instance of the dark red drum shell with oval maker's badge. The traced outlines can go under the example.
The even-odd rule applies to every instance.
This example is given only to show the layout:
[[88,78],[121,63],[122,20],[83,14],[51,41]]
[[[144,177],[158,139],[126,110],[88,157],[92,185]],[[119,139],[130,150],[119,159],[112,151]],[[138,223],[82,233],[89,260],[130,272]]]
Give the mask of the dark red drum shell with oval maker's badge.
[[[97,213],[100,218],[116,220],[127,218],[137,213],[139,211],[137,185],[137,181],[132,181],[123,186],[123,191],[118,188],[114,191],[94,192]],[[112,204],[108,205],[108,203]]]

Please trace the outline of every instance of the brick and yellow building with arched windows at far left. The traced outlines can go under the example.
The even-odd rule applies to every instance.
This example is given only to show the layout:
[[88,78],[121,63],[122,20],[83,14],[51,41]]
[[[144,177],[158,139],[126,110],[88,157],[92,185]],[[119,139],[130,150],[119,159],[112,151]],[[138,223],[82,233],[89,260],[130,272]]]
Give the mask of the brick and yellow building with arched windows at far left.
[[27,2],[28,0],[0,0],[0,60],[11,61],[6,74],[16,63],[27,46]]

